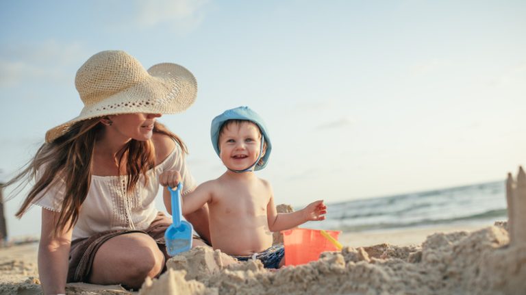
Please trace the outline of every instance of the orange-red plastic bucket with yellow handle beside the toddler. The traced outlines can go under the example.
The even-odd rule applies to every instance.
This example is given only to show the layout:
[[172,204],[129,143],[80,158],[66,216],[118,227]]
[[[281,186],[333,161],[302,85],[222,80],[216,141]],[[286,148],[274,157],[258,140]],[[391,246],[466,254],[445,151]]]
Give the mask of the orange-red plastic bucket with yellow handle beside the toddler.
[[[327,231],[327,230],[326,230]],[[285,265],[297,266],[318,260],[325,251],[338,251],[318,229],[288,229],[283,233],[285,246]],[[341,231],[327,231],[332,238],[338,240]]]

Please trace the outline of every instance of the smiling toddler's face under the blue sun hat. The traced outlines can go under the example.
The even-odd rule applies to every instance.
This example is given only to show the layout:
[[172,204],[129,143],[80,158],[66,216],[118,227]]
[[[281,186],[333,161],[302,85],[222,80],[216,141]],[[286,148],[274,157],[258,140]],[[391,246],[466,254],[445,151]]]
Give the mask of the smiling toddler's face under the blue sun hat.
[[260,148],[260,129],[250,122],[231,123],[219,136],[219,157],[231,170],[252,166],[260,155]]

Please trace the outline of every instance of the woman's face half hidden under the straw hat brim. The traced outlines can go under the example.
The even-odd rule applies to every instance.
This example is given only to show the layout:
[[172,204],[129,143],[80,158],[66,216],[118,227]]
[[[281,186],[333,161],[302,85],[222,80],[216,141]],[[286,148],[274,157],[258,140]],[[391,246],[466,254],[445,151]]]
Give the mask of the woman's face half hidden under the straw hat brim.
[[161,114],[120,114],[108,116],[112,124],[106,128],[112,130],[112,136],[146,141],[153,135],[153,123]]

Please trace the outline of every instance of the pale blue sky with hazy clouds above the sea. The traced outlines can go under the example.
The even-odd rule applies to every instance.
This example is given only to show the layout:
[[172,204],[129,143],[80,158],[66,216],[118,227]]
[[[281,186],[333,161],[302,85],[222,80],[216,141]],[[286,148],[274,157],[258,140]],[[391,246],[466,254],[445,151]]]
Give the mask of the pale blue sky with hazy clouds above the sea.
[[[526,163],[525,15],[525,1],[0,1],[1,177],[79,114],[77,69],[118,49],[197,78],[195,104],[159,120],[199,183],[225,170],[212,118],[240,105],[268,125],[257,173],[278,204],[503,180]],[[22,200],[5,204],[10,233],[36,234],[38,209],[13,217]]]

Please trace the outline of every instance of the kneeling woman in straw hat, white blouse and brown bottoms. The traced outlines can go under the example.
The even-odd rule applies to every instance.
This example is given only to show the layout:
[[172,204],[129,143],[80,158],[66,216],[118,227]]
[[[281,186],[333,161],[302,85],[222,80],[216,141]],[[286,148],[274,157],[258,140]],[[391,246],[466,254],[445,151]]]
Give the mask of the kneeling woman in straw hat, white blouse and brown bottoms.
[[[186,146],[156,119],[190,107],[197,82],[177,64],[145,70],[123,51],[102,51],[79,68],[75,86],[80,115],[47,131],[29,166],[7,183],[36,180],[16,216],[42,207],[38,270],[45,294],[64,294],[66,281],[138,289],[167,258],[171,218],[155,209],[159,185],[182,181],[183,194],[196,186]],[[166,188],[163,198],[171,212]],[[208,208],[185,217],[209,239]]]

